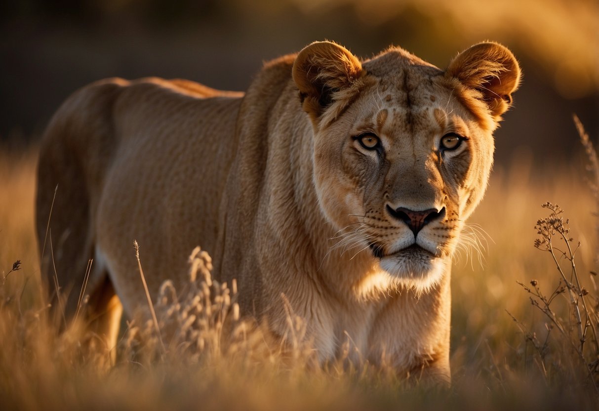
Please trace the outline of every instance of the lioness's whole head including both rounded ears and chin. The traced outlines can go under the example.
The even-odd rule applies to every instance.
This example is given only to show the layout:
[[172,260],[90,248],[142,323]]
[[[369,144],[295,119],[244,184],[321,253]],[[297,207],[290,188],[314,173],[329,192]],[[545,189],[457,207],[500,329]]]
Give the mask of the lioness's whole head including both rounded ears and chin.
[[520,79],[512,53],[480,43],[443,71],[399,48],[361,63],[320,42],[293,78],[313,123],[319,205],[341,243],[405,285],[434,285],[485,192],[492,132]]

